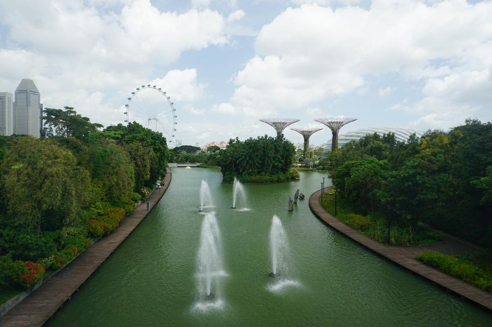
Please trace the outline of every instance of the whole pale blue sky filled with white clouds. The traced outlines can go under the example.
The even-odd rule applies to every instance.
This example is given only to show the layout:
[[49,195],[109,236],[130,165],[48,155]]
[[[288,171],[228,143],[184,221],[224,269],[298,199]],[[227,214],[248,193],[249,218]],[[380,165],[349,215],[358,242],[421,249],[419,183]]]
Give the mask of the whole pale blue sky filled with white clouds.
[[200,146],[275,136],[270,117],[448,131],[492,120],[491,17],[492,0],[1,0],[0,92],[30,78],[45,108],[108,126],[129,105],[172,135],[167,99],[136,90],[156,85]]

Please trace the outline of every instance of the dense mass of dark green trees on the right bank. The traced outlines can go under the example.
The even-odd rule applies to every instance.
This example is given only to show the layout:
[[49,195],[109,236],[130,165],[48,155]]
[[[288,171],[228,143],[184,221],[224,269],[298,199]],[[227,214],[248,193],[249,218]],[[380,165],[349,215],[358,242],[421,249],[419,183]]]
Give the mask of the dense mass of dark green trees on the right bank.
[[383,217],[381,231],[392,225],[411,239],[423,221],[492,247],[492,122],[467,119],[448,133],[429,131],[406,143],[391,134],[365,136],[321,165],[340,198]]

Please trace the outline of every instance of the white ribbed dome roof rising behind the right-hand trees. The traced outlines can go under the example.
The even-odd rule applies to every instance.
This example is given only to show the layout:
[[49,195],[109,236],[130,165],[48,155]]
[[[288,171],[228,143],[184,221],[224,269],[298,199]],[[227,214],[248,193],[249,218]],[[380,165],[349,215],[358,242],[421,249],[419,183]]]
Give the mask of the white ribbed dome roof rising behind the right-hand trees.
[[[407,142],[410,135],[415,134],[417,138],[424,134],[423,131],[412,130],[409,128],[402,127],[369,127],[369,128],[361,128],[355,131],[348,132],[347,134],[342,134],[338,136],[338,148],[341,148],[345,144],[353,140],[359,140],[361,137],[366,135],[372,135],[374,133],[383,136],[384,134],[394,133],[395,138],[400,142]],[[328,142],[321,144],[321,147],[324,148],[324,153],[326,154],[328,151],[331,151],[332,142],[329,140]]]

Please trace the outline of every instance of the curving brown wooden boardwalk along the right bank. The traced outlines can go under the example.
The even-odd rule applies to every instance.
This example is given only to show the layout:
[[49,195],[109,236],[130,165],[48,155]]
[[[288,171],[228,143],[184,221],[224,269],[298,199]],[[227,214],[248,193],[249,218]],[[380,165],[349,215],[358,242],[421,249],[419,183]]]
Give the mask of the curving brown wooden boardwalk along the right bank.
[[338,232],[351,238],[355,242],[364,245],[377,254],[389,259],[400,266],[410,270],[413,273],[431,280],[432,282],[460,295],[461,297],[471,300],[489,310],[492,310],[492,294],[482,291],[464,281],[442,273],[415,259],[417,254],[424,250],[432,249],[426,246],[389,246],[374,241],[370,237],[359,233],[355,229],[345,225],[337,218],[330,215],[321,206],[321,190],[316,191],[309,197],[309,208],[321,220],[326,222]]

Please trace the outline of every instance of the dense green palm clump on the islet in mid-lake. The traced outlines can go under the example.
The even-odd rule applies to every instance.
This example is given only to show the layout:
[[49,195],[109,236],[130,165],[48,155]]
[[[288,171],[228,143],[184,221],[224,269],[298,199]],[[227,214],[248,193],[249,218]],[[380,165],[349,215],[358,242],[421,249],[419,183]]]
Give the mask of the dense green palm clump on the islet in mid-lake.
[[270,183],[276,179],[288,180],[294,155],[294,145],[283,136],[273,138],[265,135],[245,141],[236,138],[220,151],[219,165],[225,182],[237,177],[244,182],[261,183],[265,180]]

